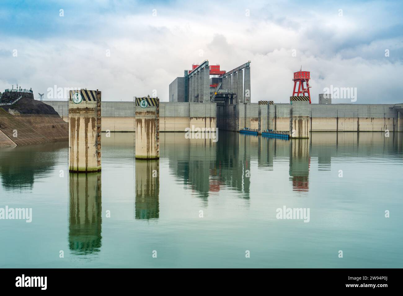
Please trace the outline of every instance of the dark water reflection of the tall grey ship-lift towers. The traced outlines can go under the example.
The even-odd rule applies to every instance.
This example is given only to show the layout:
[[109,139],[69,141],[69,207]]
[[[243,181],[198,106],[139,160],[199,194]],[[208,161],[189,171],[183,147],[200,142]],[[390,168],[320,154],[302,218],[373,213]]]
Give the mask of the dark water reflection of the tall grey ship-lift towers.
[[[218,142],[211,139],[186,139],[184,134],[160,135],[161,157],[169,158],[170,170],[178,180],[205,202],[212,192],[228,187],[249,198],[249,139],[234,132],[222,133]],[[178,147],[185,146],[185,150]]]

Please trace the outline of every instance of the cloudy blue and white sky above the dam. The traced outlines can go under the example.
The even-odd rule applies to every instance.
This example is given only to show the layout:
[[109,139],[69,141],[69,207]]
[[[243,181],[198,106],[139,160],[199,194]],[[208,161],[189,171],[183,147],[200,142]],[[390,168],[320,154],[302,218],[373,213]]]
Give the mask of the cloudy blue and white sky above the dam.
[[[192,64],[251,61],[251,102],[287,103],[310,71],[312,103],[353,88],[358,104],[403,103],[401,1],[1,1],[0,91],[17,83],[158,96]],[[332,103],[351,103],[349,98]]]

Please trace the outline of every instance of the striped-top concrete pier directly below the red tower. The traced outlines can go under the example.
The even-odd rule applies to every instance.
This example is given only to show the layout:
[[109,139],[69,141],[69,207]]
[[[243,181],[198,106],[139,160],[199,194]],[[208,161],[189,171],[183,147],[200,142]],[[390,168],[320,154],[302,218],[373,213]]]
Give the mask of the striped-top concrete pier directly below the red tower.
[[290,138],[309,138],[310,130],[309,97],[290,97]]

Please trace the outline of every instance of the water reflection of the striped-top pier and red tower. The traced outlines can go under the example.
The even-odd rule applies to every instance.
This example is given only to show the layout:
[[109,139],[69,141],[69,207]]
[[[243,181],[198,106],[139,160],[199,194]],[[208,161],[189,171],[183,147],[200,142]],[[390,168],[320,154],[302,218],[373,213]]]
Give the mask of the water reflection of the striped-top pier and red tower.
[[309,139],[293,139],[290,141],[290,178],[294,191],[309,189]]

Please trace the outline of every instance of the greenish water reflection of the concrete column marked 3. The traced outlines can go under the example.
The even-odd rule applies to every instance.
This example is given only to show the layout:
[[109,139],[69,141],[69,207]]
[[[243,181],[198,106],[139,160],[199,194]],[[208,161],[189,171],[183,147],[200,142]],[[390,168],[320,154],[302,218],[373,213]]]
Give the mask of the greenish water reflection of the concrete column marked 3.
[[100,251],[101,173],[69,174],[69,249],[76,255]]

